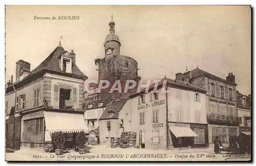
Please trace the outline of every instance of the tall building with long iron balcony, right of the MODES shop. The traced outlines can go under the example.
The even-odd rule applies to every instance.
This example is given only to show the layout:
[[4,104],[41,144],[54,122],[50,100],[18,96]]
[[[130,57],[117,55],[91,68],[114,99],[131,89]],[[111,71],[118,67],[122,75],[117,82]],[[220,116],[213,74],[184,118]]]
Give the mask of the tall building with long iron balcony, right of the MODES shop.
[[206,90],[209,144],[219,136],[228,146],[231,136],[239,135],[235,77],[229,73],[226,80],[196,68],[176,74],[176,80],[184,80]]

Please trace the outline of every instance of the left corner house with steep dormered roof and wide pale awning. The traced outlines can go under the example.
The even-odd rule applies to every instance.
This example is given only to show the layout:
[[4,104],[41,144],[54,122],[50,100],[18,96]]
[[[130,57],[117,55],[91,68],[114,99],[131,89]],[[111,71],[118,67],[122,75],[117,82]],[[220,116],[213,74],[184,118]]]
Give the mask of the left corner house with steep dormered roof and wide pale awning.
[[[61,45],[35,69],[19,60],[16,82],[6,88],[6,133],[9,148],[41,148],[51,134],[67,133],[66,142],[85,130],[82,101],[87,79],[75,63],[75,53]],[[67,145],[69,147],[71,145]]]

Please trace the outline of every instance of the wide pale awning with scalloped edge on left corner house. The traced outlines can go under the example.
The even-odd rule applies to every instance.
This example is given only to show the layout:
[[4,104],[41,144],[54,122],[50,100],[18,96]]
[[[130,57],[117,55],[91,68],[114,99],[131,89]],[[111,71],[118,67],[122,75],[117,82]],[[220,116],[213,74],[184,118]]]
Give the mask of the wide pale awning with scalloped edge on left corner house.
[[83,114],[44,111],[46,131],[66,133],[80,132],[87,129]]

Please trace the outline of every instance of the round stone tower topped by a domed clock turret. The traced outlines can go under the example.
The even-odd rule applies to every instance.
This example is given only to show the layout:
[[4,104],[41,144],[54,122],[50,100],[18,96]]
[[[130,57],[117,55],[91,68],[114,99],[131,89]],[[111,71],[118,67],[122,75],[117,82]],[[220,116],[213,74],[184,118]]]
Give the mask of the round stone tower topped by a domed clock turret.
[[130,96],[130,94],[134,92],[134,89],[129,90],[127,93],[119,93],[118,91],[109,93],[109,91],[116,80],[120,80],[122,92],[124,90],[126,80],[135,80],[138,82],[140,80],[137,73],[138,63],[131,57],[120,55],[121,43],[118,36],[115,34],[115,22],[113,20],[113,16],[109,26],[110,31],[104,41],[105,57],[103,59],[96,59],[95,64],[99,67],[98,82],[100,80],[108,80],[110,81],[110,87],[102,89],[98,97],[100,99],[109,97],[125,98]]

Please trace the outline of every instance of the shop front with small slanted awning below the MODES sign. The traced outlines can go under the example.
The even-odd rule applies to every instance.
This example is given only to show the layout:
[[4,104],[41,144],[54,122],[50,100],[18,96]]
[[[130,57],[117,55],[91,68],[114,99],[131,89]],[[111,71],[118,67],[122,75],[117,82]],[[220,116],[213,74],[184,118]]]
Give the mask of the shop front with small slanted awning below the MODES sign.
[[207,147],[208,127],[205,124],[169,123],[168,147]]

